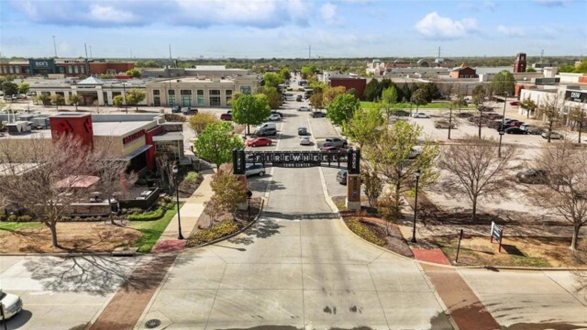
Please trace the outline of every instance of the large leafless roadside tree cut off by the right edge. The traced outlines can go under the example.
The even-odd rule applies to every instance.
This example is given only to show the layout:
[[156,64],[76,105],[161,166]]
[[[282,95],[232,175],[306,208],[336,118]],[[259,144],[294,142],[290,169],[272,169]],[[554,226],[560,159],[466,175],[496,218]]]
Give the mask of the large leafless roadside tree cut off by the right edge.
[[572,224],[571,250],[577,249],[579,230],[587,224],[587,150],[572,142],[542,147],[532,167],[546,173],[544,184],[526,191],[529,201],[564,217]]

